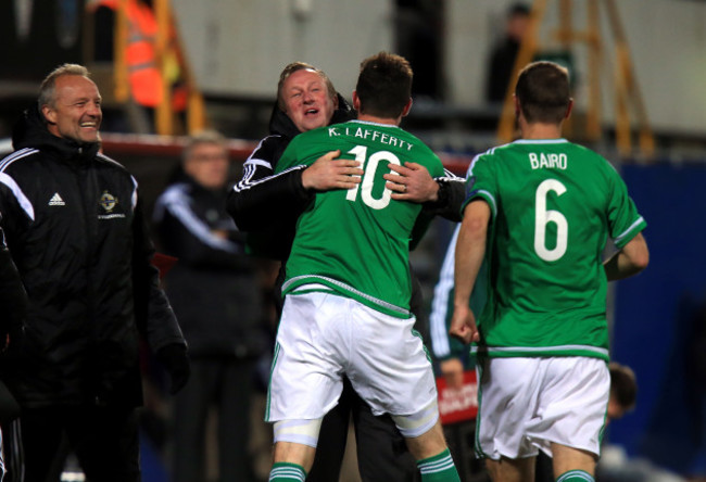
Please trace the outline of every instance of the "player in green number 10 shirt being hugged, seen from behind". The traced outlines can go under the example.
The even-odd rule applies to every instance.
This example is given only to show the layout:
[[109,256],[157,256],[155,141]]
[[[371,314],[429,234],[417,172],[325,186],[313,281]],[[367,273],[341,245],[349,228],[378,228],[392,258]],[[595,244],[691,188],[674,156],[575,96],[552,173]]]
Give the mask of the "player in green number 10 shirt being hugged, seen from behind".
[[277,173],[298,168],[338,149],[364,174],[352,189],[317,193],[297,226],[266,414],[275,422],[270,481],[305,479],[343,373],[374,414],[392,416],[423,481],[458,480],[408,312],[408,250],[421,206],[393,200],[383,179],[389,164],[408,161],[443,174],[439,157],[398,127],[412,105],[411,86],[403,58],[366,59],[353,92],[358,119],[301,134],[277,165]]

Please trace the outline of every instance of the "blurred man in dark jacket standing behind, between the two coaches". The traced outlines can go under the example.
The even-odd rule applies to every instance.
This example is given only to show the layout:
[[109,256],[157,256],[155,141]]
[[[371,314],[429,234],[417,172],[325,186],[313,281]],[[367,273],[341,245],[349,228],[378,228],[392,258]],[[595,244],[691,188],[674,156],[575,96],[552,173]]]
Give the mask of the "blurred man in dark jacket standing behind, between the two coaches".
[[174,480],[206,479],[206,419],[215,405],[218,480],[249,482],[253,368],[268,346],[260,328],[255,259],[245,255],[243,236],[225,210],[229,162],[223,136],[204,131],[191,137],[182,170],[154,210],[162,246],[178,258],[165,284],[189,343],[193,373],[173,410]]

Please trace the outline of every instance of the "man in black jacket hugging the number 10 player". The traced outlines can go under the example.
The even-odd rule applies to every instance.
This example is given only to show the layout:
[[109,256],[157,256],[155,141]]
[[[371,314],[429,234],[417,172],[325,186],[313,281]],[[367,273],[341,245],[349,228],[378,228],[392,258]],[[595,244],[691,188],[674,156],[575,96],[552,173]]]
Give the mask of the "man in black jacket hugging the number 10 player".
[[[277,105],[264,138],[243,166],[241,180],[228,196],[228,213],[236,225],[249,231],[252,254],[285,262],[292,245],[297,219],[316,191],[349,189],[360,182],[363,170],[352,160],[336,160],[329,153],[312,166],[273,176],[282,152],[300,132],[355,117],[345,100],[336,92],[326,74],[312,65],[294,62],[285,67],[277,86]],[[425,202],[431,214],[461,219],[463,179],[449,173],[432,179],[416,165],[389,166],[396,174],[384,176],[394,199]],[[352,183],[353,182],[353,183]],[[280,271],[280,280],[283,270]],[[281,282],[281,281],[280,281]],[[421,291],[413,277],[412,312],[423,315]],[[279,287],[277,287],[279,288]],[[356,430],[358,467],[366,481],[412,480],[414,457],[389,416],[375,417],[350,383],[336,408],[324,418],[318,449],[307,481],[338,480],[345,448],[349,417]]]

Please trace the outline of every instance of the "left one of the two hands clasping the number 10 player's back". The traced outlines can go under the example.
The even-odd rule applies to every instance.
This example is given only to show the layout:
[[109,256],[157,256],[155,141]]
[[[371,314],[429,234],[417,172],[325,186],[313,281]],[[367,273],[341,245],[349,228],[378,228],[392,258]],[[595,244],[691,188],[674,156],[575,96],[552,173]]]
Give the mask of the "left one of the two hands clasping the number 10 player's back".
[[361,182],[363,169],[354,160],[336,158],[341,151],[331,151],[317,158],[302,173],[302,185],[314,191],[351,189]]

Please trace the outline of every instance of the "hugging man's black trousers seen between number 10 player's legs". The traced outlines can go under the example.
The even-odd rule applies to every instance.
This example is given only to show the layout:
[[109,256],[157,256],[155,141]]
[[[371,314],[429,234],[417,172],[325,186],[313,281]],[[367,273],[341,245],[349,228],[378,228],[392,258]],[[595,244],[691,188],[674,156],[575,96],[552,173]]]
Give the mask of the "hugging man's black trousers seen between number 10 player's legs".
[[370,407],[344,379],[338,405],[324,417],[307,482],[339,480],[351,416],[363,482],[421,480],[416,461],[392,418],[389,415],[374,416]]

